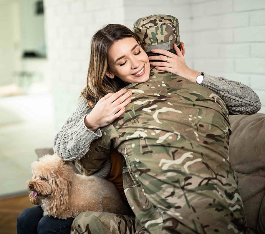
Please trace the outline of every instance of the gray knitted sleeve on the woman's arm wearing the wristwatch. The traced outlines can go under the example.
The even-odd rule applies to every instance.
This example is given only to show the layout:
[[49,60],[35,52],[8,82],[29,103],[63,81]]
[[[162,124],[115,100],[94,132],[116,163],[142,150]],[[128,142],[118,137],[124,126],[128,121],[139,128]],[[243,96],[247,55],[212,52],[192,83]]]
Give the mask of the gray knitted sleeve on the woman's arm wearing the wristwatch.
[[204,73],[201,85],[213,90],[226,103],[230,115],[249,115],[261,108],[259,96],[248,86]]

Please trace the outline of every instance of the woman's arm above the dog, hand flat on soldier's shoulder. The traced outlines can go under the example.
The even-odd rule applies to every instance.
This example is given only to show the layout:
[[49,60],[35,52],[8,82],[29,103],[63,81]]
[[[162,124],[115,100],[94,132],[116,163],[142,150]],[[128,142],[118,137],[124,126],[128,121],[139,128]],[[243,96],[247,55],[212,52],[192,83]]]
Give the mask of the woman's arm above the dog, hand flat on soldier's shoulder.
[[[100,127],[107,126],[118,118],[130,103],[131,91],[122,89],[101,98],[91,110],[84,97],[54,138],[54,153],[65,161],[81,159],[89,150],[92,141],[102,136]],[[125,93],[125,94],[124,94]]]

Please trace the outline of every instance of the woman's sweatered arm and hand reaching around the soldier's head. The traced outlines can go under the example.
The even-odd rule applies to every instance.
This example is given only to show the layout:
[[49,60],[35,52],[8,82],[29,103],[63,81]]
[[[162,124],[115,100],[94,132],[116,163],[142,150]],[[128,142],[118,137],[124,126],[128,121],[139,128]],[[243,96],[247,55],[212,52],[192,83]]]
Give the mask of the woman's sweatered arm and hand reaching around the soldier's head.
[[[152,50],[161,55],[150,56],[149,59],[164,62],[150,62],[150,65],[156,66],[157,70],[171,72],[196,83],[196,77],[201,75],[201,72],[190,69],[176,45],[174,49],[176,55],[167,50]],[[230,115],[254,114],[261,108],[259,96],[251,88],[237,81],[204,73],[201,85],[213,90],[223,99]]]

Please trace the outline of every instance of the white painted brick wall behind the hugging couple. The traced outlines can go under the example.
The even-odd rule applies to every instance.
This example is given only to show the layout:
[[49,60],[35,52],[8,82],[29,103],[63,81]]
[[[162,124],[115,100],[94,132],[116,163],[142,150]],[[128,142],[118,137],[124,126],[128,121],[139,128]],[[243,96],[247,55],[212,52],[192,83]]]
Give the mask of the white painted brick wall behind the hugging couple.
[[136,19],[179,19],[188,66],[251,86],[265,113],[264,0],[44,0],[56,128],[85,86],[92,35],[104,24],[132,28]]

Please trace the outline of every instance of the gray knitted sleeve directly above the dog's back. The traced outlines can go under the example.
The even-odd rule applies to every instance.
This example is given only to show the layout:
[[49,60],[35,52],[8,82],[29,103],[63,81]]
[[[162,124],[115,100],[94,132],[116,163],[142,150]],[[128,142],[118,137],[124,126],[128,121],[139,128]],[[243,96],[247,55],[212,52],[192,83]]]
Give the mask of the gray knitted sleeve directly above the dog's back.
[[100,129],[93,132],[85,126],[85,116],[90,111],[85,98],[81,97],[77,109],[55,136],[54,153],[61,156],[64,161],[81,159],[89,150],[91,142],[102,136]]

